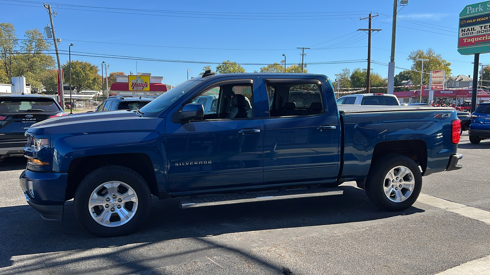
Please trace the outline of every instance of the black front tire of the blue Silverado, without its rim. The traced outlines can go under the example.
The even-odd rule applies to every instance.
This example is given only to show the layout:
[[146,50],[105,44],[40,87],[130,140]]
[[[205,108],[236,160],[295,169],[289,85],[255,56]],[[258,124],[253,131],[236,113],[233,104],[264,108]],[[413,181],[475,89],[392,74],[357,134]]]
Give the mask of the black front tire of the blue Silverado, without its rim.
[[[136,203],[133,202],[131,204],[131,202],[127,202],[129,204],[124,205],[124,201],[122,203],[118,203],[116,200],[114,202],[111,200],[107,203],[121,204],[122,207],[107,207],[107,210],[104,209],[105,205],[102,207],[95,206],[98,207],[97,211],[101,211],[100,215],[106,212],[110,216],[109,221],[106,219],[106,222],[111,223],[111,225],[104,226],[97,222],[95,220],[96,218],[92,216],[96,215],[96,208],[93,207],[89,210],[89,201],[91,200],[91,196],[96,189],[105,192],[103,190],[104,187],[100,188],[100,185],[108,182],[122,182],[123,184],[117,184],[122,186],[121,188],[123,191],[124,187],[128,187],[129,189],[126,192],[134,192],[134,194],[136,194]],[[105,190],[107,190],[107,194],[105,194],[105,196],[111,199],[108,193],[109,189]],[[120,191],[120,189],[117,190],[118,192]],[[117,193],[117,195],[119,195],[119,193]],[[124,197],[124,195],[120,196],[121,198]],[[118,211],[120,210],[117,210],[116,208],[123,208],[121,210],[124,210],[127,206],[130,206],[131,209],[135,209],[135,211],[131,212],[130,218],[127,218],[127,216],[120,218],[120,222],[125,219],[125,223],[118,226],[117,221],[110,221],[121,217],[121,215],[118,214]],[[119,165],[104,166],[92,171],[82,180],[76,189],[73,199],[73,207],[76,220],[86,231],[99,237],[123,236],[136,231],[147,220],[151,208],[151,193],[146,181],[134,170]],[[114,211],[109,212],[112,209],[114,209]],[[112,224],[113,222],[114,225]]]

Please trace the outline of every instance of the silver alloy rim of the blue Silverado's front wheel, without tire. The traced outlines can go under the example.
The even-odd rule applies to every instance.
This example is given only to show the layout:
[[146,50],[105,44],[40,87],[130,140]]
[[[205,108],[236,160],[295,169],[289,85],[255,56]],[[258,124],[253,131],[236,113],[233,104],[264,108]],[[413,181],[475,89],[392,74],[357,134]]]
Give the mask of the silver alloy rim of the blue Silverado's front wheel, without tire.
[[138,196],[123,182],[107,182],[95,188],[90,196],[92,218],[103,226],[117,227],[127,223],[138,208]]

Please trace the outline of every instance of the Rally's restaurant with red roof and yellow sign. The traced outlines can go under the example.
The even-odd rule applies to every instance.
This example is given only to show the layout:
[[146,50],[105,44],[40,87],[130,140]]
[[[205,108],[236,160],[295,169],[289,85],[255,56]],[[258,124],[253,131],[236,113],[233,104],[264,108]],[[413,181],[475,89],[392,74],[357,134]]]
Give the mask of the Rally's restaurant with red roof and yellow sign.
[[162,76],[152,76],[151,73],[143,72],[136,75],[116,75],[111,92],[123,97],[159,96],[167,92],[167,86],[162,84],[162,80]]

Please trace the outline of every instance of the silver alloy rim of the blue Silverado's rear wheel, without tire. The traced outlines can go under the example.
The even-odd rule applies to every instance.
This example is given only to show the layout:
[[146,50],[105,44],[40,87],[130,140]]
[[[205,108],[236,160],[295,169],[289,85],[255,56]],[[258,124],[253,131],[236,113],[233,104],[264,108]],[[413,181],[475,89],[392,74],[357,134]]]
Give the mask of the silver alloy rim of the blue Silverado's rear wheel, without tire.
[[405,166],[393,167],[385,176],[385,195],[390,201],[401,203],[412,195],[415,180],[412,171]]

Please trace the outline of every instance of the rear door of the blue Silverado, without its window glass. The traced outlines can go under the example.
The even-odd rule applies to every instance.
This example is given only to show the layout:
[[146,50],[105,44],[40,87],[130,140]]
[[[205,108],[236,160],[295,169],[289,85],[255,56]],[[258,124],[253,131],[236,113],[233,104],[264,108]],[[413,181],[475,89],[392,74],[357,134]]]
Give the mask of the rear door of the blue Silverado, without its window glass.
[[[325,84],[322,85],[322,100],[323,106],[327,106],[326,113],[264,117],[264,182],[317,181],[337,177],[340,121],[337,102],[329,96],[333,92]],[[267,92],[263,80],[261,92],[263,97]],[[264,114],[268,115],[267,112]]]

